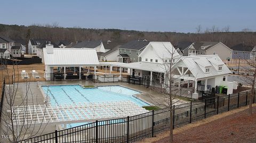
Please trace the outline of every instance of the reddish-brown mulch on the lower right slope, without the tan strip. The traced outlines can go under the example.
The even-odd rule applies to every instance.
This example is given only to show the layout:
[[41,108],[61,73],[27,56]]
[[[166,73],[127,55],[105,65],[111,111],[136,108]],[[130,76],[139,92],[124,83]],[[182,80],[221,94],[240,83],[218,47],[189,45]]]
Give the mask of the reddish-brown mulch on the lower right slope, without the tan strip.
[[[256,142],[256,107],[174,134],[174,142]],[[168,142],[165,137],[156,141]]]

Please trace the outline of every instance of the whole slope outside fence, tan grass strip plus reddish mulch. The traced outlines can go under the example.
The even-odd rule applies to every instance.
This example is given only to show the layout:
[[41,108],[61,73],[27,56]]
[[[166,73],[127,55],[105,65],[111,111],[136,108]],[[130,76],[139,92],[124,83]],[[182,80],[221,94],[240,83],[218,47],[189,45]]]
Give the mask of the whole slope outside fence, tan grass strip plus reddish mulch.
[[[174,142],[256,142],[256,104],[253,115],[248,107],[215,115],[184,127],[174,129]],[[168,142],[169,132],[148,138],[142,142]]]

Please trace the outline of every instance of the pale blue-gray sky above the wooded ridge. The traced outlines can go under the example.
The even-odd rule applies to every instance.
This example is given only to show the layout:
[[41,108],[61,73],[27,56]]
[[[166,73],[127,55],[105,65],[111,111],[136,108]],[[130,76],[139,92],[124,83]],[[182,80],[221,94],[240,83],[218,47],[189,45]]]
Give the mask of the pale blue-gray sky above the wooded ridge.
[[256,1],[2,1],[0,23],[52,24],[61,27],[114,28],[140,31],[196,32],[229,26],[256,31]]

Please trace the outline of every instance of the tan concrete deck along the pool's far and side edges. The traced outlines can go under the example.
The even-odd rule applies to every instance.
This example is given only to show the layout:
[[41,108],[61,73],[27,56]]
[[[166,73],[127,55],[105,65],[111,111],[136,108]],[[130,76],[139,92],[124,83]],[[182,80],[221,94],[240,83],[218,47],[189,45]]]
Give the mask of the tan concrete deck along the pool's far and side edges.
[[[164,104],[167,102],[166,97],[163,94],[159,94],[158,92],[148,89],[145,86],[139,86],[139,85],[132,85],[125,82],[104,82],[104,83],[94,83],[92,81],[86,81],[86,80],[66,80],[66,81],[40,81],[40,82],[23,82],[19,83],[17,97],[15,99],[15,105],[18,105],[22,101],[22,96],[26,95],[26,85],[30,87],[29,94],[28,94],[28,105],[37,105],[37,104],[45,104],[44,102],[44,96],[42,94],[42,91],[38,86],[42,85],[73,85],[73,84],[80,84],[80,85],[86,85],[86,86],[106,86],[106,85],[120,85],[127,88],[131,88],[133,90],[141,91],[142,93],[139,95],[135,95],[135,97],[138,97],[145,102],[152,104],[152,105],[158,105]],[[33,95],[33,96],[32,96]],[[175,99],[177,101],[175,104],[183,104],[186,103],[183,100]],[[167,104],[167,103],[165,103]]]

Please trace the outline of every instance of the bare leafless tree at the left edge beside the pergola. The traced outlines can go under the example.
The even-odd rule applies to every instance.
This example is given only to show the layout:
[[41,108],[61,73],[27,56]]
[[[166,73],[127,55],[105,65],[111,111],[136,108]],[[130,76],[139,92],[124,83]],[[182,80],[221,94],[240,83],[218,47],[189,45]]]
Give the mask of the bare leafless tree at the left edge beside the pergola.
[[[2,62],[6,63],[6,62]],[[6,64],[5,64],[6,65]],[[31,77],[31,75],[28,75]],[[1,131],[4,142],[18,142],[42,134],[47,123],[36,122],[37,113],[34,105],[38,105],[37,96],[33,94],[30,88],[30,82],[25,82],[25,93],[20,93],[19,87],[19,68],[16,63],[11,65],[11,69],[2,70],[2,79],[6,82],[4,89]],[[45,105],[47,105],[47,94]],[[43,108],[43,117],[45,116]],[[30,113],[29,113],[30,111]],[[20,113],[19,113],[20,112]],[[22,112],[22,113],[21,113]],[[22,120],[18,119],[22,116]]]

